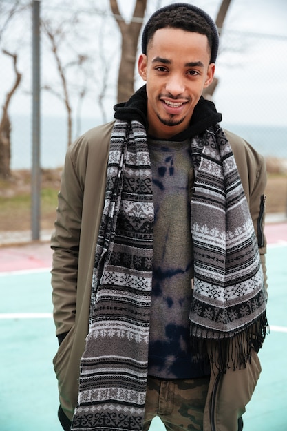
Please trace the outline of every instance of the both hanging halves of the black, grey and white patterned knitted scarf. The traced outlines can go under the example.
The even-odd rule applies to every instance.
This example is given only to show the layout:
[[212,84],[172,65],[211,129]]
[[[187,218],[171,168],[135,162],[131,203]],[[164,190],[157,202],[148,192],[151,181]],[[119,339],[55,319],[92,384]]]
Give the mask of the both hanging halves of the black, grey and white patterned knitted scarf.
[[[225,339],[264,315],[262,269],[222,129],[211,128],[204,143],[193,139],[192,149],[197,180],[191,210],[191,331],[196,339]],[[142,430],[152,259],[153,197],[145,127],[136,120],[116,120],[72,430]]]

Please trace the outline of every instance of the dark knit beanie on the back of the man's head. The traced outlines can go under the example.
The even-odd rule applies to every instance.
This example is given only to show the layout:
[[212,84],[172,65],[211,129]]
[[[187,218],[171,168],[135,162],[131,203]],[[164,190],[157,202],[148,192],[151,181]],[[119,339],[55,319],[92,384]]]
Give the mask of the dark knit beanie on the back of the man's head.
[[211,17],[209,17],[209,14],[206,14],[204,10],[198,8],[197,6],[190,5],[188,3],[173,3],[169,6],[164,6],[163,8],[160,8],[154,12],[151,17],[149,18],[149,21],[147,21],[145,28],[142,32],[142,54],[147,54],[147,31],[149,29],[149,22],[153,17],[156,17],[161,12],[168,12],[169,10],[174,10],[176,8],[185,7],[187,9],[193,10],[193,12],[201,15],[205,21],[209,24],[209,27],[211,28],[213,32],[213,41],[212,41],[212,50],[211,50],[211,63],[215,63],[218,47],[219,47],[219,35],[217,31],[217,27],[215,25],[215,22]]

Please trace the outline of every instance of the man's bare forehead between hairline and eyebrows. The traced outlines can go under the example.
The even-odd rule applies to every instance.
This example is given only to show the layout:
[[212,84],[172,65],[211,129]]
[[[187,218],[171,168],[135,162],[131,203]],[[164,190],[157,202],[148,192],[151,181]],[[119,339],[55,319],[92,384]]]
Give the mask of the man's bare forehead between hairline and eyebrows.
[[147,46],[147,56],[176,54],[178,56],[207,56],[210,48],[207,36],[180,28],[160,28],[153,34]]

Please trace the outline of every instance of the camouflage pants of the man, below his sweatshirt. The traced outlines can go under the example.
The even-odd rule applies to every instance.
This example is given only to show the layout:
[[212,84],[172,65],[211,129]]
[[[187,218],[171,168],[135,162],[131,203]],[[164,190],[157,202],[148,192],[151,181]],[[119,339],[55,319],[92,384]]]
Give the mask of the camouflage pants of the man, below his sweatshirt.
[[202,431],[208,388],[209,377],[175,380],[149,377],[143,431],[149,429],[156,416],[169,431]]

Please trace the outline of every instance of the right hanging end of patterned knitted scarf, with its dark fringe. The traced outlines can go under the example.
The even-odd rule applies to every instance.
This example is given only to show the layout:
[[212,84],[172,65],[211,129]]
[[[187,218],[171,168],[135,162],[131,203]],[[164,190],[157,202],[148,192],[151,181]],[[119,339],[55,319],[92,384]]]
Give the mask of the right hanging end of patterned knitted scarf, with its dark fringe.
[[[246,366],[266,336],[266,289],[257,238],[230,144],[217,125],[191,143],[194,253],[191,344],[209,343],[220,372]],[[203,340],[203,342],[202,342]]]

